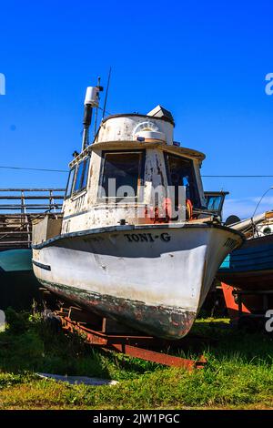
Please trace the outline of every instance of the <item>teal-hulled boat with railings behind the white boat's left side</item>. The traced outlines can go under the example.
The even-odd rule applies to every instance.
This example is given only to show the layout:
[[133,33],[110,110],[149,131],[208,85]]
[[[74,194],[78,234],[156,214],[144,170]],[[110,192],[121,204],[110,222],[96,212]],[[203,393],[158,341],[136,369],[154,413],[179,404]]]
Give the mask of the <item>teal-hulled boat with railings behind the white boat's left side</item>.
[[32,266],[32,221],[61,209],[64,189],[0,189],[0,309],[40,300]]

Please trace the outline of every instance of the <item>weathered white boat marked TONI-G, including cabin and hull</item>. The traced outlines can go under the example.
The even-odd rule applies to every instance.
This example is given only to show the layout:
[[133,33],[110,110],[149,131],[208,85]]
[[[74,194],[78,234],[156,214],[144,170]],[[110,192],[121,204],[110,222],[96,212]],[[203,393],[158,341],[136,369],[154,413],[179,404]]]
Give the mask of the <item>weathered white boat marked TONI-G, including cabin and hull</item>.
[[166,108],[103,117],[89,144],[99,90],[86,91],[82,150],[69,164],[63,217],[33,226],[35,276],[85,311],[178,340],[244,238],[207,209],[205,155],[174,140]]

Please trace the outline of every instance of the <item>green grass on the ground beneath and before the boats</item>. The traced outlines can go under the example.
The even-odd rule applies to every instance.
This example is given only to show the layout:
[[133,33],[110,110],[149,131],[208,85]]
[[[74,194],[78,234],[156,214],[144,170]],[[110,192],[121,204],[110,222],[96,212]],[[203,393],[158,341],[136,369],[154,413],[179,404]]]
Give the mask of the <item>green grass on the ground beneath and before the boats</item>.
[[[100,352],[82,338],[53,333],[38,317],[8,314],[0,333],[2,409],[177,409],[273,408],[273,341],[227,327],[227,320],[198,320],[197,341],[182,355],[204,353],[204,370],[187,372],[122,354]],[[179,353],[179,352],[178,352]],[[42,380],[35,372],[115,379],[116,385],[91,387]]]

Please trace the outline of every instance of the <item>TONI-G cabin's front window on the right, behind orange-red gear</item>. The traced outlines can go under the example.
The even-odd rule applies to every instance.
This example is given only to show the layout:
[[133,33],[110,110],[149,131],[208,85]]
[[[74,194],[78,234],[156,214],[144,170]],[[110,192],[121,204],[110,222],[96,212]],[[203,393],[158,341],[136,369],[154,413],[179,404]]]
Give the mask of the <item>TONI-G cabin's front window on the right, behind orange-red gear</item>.
[[193,206],[200,207],[197,181],[193,161],[187,158],[167,155],[167,173],[170,186],[175,188],[175,204],[179,205],[178,188],[186,188],[186,199],[190,199]]

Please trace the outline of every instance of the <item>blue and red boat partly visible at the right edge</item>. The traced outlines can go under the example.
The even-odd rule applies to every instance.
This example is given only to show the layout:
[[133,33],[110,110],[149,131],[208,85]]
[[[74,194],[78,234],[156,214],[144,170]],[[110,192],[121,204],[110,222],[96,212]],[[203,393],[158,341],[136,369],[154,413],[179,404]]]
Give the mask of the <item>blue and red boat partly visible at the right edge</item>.
[[217,274],[233,322],[242,315],[262,315],[273,305],[273,211],[239,221],[247,240],[232,251]]

